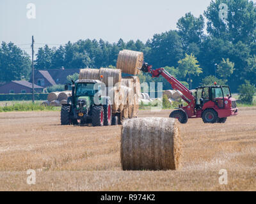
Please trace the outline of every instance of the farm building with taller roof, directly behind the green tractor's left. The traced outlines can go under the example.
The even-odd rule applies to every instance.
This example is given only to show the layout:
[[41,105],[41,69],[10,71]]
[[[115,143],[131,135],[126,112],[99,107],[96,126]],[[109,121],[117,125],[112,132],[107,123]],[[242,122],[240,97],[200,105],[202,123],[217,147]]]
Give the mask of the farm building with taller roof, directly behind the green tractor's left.
[[[79,73],[80,69],[47,69],[35,70],[35,84],[42,87],[51,87],[56,84],[66,84],[68,75]],[[32,82],[32,77],[29,80]]]

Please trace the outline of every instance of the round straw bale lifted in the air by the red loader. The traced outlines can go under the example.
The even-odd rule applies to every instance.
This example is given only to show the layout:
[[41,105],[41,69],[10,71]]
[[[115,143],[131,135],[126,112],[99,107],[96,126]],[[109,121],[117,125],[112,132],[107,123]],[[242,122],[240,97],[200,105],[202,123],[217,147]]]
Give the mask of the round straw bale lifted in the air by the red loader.
[[118,54],[116,68],[122,69],[123,73],[128,73],[130,75],[138,75],[140,73],[140,70],[138,68],[142,67],[142,63],[142,52],[122,50]]

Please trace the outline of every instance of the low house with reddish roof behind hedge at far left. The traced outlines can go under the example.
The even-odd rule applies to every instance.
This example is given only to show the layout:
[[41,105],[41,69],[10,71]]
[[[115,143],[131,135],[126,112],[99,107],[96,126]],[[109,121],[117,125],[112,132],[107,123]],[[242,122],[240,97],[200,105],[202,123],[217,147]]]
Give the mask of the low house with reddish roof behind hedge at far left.
[[[44,89],[36,84],[34,88],[35,92],[43,92]],[[0,94],[30,94],[32,92],[32,84],[27,81],[12,81],[0,87]]]

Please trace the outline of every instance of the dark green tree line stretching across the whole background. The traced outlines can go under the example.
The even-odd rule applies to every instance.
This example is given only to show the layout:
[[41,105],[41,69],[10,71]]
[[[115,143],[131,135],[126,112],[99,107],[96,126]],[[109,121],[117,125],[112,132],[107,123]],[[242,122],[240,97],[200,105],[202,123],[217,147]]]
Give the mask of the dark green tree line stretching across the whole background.
[[[227,18],[220,18],[220,5],[227,4]],[[205,22],[207,25],[205,26]],[[58,48],[48,45],[36,54],[36,69],[115,67],[118,52],[123,49],[144,53],[145,61],[154,68],[164,67],[183,84],[194,89],[198,85],[230,85],[237,91],[245,80],[256,84],[256,6],[248,0],[211,1],[203,15],[186,13],[177,22],[177,29],[166,31],[143,43],[120,39],[79,40]],[[27,78],[30,59],[13,43],[0,47],[1,82]],[[142,81],[152,80],[140,75]],[[170,84],[164,82],[164,89]]]

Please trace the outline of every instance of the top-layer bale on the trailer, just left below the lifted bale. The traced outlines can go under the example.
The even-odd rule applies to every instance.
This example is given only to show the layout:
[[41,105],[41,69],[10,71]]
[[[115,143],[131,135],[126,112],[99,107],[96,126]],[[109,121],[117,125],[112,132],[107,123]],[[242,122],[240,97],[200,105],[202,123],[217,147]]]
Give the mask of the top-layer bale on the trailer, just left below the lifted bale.
[[99,75],[103,77],[102,82],[106,87],[119,87],[122,78],[122,71],[121,69],[100,68]]

